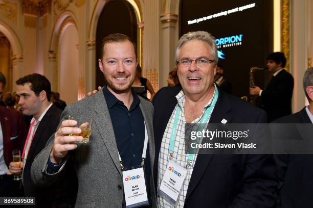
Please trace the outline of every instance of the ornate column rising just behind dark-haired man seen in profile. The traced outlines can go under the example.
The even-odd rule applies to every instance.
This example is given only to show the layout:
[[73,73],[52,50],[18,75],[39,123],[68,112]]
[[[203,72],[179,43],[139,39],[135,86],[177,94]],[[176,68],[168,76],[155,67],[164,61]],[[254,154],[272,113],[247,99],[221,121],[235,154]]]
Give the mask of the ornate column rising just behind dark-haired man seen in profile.
[[48,70],[46,70],[45,76],[50,77],[51,90],[58,91],[57,54],[54,50],[49,50],[48,53]]

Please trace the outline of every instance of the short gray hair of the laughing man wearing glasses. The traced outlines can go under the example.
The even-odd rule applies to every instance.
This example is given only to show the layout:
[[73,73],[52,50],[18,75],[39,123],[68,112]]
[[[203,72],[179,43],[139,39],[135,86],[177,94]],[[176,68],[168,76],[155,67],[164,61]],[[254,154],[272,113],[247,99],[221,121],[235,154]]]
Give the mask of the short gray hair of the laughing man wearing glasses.
[[211,55],[213,56],[213,60],[215,62],[215,65],[218,62],[218,55],[217,55],[217,46],[215,43],[215,38],[208,32],[205,31],[195,31],[195,32],[189,32],[184,34],[180,40],[178,40],[178,44],[176,47],[176,53],[175,53],[175,59],[177,61],[178,54],[180,53],[181,47],[187,43],[190,40],[202,40],[206,43],[208,43],[212,50],[211,50]]

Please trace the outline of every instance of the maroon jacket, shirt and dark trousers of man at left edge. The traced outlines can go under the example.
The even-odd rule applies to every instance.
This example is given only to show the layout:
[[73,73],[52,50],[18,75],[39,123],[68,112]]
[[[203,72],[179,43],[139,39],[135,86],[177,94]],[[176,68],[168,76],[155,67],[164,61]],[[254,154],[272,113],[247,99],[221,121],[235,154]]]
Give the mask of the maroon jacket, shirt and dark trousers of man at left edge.
[[[1,72],[0,72],[1,73]],[[23,115],[13,109],[0,106],[0,196],[19,196],[20,181],[13,180],[9,164],[12,162],[12,151],[21,150],[26,134]],[[7,175],[8,172],[8,175]]]

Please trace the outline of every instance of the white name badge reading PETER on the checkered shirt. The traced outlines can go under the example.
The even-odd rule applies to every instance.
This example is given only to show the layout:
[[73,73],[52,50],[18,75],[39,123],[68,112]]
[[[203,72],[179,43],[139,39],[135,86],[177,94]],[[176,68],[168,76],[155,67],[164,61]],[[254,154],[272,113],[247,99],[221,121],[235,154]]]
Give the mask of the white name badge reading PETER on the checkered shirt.
[[159,193],[176,203],[187,175],[187,169],[173,161],[169,161],[166,167]]

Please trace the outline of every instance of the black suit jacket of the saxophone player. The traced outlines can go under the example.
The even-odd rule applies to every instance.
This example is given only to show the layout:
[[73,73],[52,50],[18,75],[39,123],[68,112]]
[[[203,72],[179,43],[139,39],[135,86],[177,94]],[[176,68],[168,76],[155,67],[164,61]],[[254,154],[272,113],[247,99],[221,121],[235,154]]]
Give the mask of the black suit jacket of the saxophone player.
[[294,90],[294,77],[285,69],[272,77],[262,91],[262,108],[267,114],[267,121],[292,114],[291,100]]

